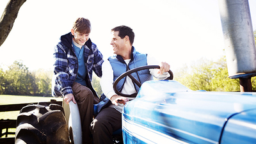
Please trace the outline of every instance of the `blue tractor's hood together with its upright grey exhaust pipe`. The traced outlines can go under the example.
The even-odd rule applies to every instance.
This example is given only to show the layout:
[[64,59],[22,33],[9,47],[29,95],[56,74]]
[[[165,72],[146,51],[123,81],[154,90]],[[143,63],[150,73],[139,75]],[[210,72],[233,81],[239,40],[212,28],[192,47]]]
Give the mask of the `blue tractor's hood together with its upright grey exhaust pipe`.
[[248,1],[219,4],[228,74],[240,80],[241,92],[193,91],[173,80],[147,81],[124,106],[124,143],[256,143],[251,83],[256,49]]

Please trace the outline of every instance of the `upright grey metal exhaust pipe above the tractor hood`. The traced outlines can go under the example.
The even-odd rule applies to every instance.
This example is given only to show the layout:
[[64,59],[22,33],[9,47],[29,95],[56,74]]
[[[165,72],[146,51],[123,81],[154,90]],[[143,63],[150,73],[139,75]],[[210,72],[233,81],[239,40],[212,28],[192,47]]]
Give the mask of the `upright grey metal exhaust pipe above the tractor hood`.
[[240,80],[241,92],[252,92],[256,48],[248,0],[219,0],[228,77]]

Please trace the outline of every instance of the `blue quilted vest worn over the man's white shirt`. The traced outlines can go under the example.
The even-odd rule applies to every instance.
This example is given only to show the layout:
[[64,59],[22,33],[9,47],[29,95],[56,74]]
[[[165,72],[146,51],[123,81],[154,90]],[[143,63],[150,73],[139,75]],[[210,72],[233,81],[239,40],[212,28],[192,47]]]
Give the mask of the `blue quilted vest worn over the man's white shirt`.
[[[131,54],[131,61],[128,64],[128,67],[122,58],[122,56],[111,56],[108,58],[114,74],[114,81],[119,77],[121,74],[126,72],[127,70],[131,70],[132,68],[137,68],[141,66],[147,65],[147,54],[142,54],[137,52],[134,47],[132,47],[132,54]],[[131,74],[135,79],[140,81],[140,83],[144,83],[145,81],[153,80],[152,75],[150,74],[149,70],[140,70],[137,73],[134,72]],[[126,77],[121,79],[119,83],[116,85],[116,89],[121,92],[125,83]],[[135,90],[138,92],[140,88],[134,84]]]

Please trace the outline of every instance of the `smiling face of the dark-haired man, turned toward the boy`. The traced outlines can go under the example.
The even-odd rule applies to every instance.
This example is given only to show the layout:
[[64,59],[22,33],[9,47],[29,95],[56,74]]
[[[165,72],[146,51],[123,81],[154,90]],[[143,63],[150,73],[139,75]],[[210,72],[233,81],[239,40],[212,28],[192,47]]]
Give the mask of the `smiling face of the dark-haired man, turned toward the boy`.
[[124,39],[120,38],[118,36],[119,31],[112,31],[112,40],[111,45],[113,47],[114,54],[122,55],[122,52],[124,51]]

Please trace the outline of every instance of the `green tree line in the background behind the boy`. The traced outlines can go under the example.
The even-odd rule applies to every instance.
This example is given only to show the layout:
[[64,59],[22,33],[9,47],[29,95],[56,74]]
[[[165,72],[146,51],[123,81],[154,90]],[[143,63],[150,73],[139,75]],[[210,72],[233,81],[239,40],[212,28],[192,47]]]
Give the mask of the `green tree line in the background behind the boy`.
[[[52,70],[38,69],[29,72],[22,61],[14,61],[8,70],[0,67],[0,95],[51,96],[52,75]],[[93,74],[93,88],[101,95],[99,81],[100,78]]]

